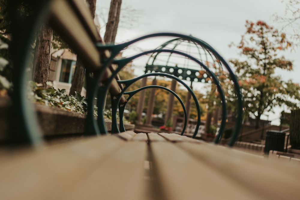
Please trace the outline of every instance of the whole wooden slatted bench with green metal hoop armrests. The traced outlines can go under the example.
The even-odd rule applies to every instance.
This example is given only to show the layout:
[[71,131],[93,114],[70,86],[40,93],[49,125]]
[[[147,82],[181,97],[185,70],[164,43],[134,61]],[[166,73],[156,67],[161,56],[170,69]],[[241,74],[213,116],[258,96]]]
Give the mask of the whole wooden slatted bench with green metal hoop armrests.
[[[114,57],[129,44],[149,37],[182,37],[209,49],[231,75],[239,108],[235,132],[228,145],[234,144],[241,122],[241,93],[228,64],[207,43],[182,34],[159,33],[119,45],[105,45],[95,32],[82,1],[27,2],[32,3],[33,18],[28,22],[15,15],[14,21],[15,122],[12,127],[15,129],[9,133],[9,141],[12,145],[31,144],[36,148],[1,154],[1,199],[298,199],[300,173],[297,166],[267,162],[259,156],[173,133],[125,132],[122,109],[124,111],[126,102],[140,90],[162,88],[146,86],[138,91],[125,92],[131,83],[144,76],[165,76],[182,81],[162,73],[146,74],[133,80],[115,78],[127,62],[140,55],[160,51],[174,53],[173,50],[155,49],[119,60]],[[57,146],[42,145],[36,116],[32,105],[26,100],[25,70],[30,38],[34,34],[35,25],[45,19],[45,13],[49,14],[47,16],[55,30],[80,55],[87,70],[89,112],[85,134],[90,137]],[[222,88],[215,75],[192,56],[175,53],[194,60],[207,71],[223,98],[222,113],[226,113]],[[118,67],[112,69],[111,64]],[[119,83],[126,86],[122,88]],[[174,92],[162,89],[176,96]],[[107,91],[114,96],[112,123],[115,134],[107,134],[104,126],[102,110]],[[123,94],[128,94],[129,98],[125,99]],[[95,97],[98,98],[97,120],[92,115]],[[121,111],[120,129],[116,125],[118,107]],[[225,121],[226,115],[223,114],[220,132],[214,143],[220,140]]]

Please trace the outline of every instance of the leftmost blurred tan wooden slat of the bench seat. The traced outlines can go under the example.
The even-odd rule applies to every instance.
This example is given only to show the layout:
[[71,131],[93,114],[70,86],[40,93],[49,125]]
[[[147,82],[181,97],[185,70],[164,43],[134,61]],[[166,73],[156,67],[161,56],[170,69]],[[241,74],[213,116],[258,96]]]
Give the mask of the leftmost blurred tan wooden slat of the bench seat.
[[65,199],[124,144],[101,136],[7,157],[0,163],[0,199]]

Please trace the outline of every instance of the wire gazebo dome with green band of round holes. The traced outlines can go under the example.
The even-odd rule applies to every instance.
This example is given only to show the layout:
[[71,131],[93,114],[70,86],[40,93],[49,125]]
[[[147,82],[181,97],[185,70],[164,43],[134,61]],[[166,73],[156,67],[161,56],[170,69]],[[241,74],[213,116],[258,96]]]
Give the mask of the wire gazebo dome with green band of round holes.
[[[220,61],[218,61],[211,51],[185,38],[169,40],[156,49],[168,49],[186,53],[209,67],[213,73],[218,73],[218,71],[222,70]],[[145,73],[151,72],[169,73],[191,82],[208,82],[206,79],[208,75],[199,64],[175,52],[152,53],[145,69]]]

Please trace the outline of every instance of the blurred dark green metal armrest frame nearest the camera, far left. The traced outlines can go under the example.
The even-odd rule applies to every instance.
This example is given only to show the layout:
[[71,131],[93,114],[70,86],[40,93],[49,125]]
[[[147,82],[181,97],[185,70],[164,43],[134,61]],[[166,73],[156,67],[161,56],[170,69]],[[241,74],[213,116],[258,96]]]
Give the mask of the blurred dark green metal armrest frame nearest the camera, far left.
[[28,100],[28,77],[26,70],[29,65],[30,45],[34,41],[38,24],[45,21],[50,0],[29,1],[32,6],[32,16],[19,16],[20,0],[8,1],[12,18],[11,44],[13,56],[13,109],[11,113],[8,143],[14,145],[32,145],[39,147],[43,144],[41,130],[33,105]]

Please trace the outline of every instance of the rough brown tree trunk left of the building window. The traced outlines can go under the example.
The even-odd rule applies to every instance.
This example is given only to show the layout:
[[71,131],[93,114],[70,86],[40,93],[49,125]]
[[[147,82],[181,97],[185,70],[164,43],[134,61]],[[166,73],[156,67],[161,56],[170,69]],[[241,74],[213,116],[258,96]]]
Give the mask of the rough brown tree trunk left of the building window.
[[41,25],[35,45],[35,59],[32,73],[32,80],[47,87],[49,78],[50,58],[52,46],[52,28],[48,25]]

